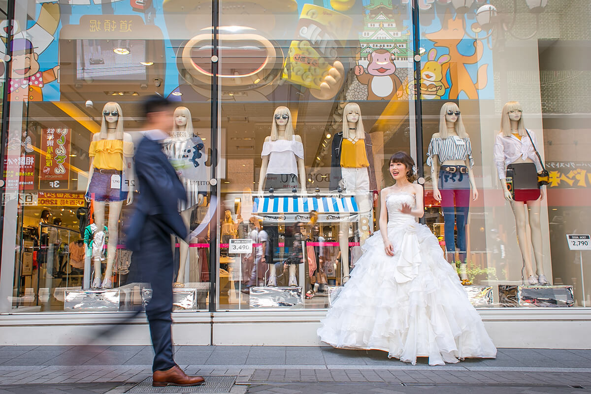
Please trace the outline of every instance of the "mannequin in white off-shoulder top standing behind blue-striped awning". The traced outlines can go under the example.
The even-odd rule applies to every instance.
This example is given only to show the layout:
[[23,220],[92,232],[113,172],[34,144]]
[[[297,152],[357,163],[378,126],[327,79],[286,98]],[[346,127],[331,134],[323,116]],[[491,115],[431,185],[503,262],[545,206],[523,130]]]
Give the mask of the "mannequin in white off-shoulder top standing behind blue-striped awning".
[[[306,170],[304,168],[304,145],[301,137],[294,133],[291,112],[287,107],[275,109],[271,135],[262,145],[262,164],[259,175],[258,194],[263,191],[285,191],[291,194],[294,188],[306,193]],[[269,286],[277,286],[277,273],[273,261],[269,265]],[[296,266],[290,265],[289,284],[297,285]]]

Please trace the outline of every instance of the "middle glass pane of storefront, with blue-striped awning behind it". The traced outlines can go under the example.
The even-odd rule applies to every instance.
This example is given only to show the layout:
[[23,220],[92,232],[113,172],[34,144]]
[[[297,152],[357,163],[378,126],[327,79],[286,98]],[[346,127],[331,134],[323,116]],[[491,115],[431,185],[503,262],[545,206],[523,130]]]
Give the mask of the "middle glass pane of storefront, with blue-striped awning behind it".
[[376,230],[390,155],[414,154],[410,8],[220,9],[219,308],[326,308]]

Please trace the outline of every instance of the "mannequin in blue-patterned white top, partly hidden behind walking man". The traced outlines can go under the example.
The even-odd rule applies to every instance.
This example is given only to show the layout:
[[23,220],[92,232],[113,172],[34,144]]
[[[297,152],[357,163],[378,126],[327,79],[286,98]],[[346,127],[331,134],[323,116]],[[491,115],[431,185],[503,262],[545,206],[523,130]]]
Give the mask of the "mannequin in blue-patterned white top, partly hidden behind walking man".
[[[206,178],[205,162],[207,160],[203,149],[203,140],[193,135],[193,122],[191,112],[186,107],[177,107],[174,110],[173,131],[165,141],[164,154],[180,167],[179,178],[187,191],[187,201],[179,201],[178,210],[187,229],[191,220],[191,213],[195,206],[203,203],[203,196],[207,193],[204,188],[200,190],[200,181]],[[194,161],[193,161],[194,158]],[[185,160],[183,160],[185,159]],[[175,287],[183,287],[185,281],[185,265],[189,256],[189,244],[183,239],[179,240],[179,266]],[[176,241],[173,237],[173,254]]]

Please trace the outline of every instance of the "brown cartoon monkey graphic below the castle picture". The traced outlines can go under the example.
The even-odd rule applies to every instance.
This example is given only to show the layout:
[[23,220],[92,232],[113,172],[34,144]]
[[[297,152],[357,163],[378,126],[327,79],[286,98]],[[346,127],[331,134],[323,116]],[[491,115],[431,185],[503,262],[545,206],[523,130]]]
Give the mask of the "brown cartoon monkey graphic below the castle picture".
[[363,66],[355,66],[355,75],[359,83],[368,86],[368,100],[391,100],[398,98],[398,89],[402,86],[394,71],[394,55],[385,49],[376,49],[368,55],[367,72]]

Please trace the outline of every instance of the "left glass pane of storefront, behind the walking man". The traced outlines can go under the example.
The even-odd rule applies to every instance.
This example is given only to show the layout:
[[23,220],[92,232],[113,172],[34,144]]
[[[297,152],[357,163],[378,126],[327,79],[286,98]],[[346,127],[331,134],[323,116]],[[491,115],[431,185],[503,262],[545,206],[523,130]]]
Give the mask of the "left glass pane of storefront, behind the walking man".
[[178,209],[191,232],[189,243],[171,239],[174,273],[163,280],[175,282],[175,311],[206,309],[211,78],[187,81],[189,64],[210,62],[200,52],[211,43],[210,4],[59,3],[18,1],[21,28],[8,48],[4,245],[16,239],[17,252],[2,256],[2,278],[14,277],[12,294],[2,286],[11,299],[2,311],[126,311],[149,302],[124,229],[138,197],[139,104],[153,94],[178,106],[163,142],[187,188]]

